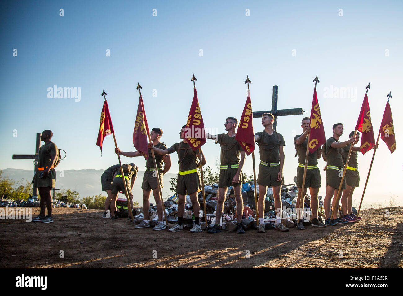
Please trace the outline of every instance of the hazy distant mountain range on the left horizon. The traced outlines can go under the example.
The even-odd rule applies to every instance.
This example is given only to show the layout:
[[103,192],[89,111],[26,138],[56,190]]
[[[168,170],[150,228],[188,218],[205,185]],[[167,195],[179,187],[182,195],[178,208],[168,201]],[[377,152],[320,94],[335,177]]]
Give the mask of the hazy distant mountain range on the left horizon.
[[[63,171],[63,177],[60,177],[60,171],[56,171],[56,189],[70,189],[75,190],[80,194],[80,197],[93,196],[98,194],[106,195],[105,191],[102,191],[101,187],[101,175],[104,170],[65,170]],[[143,199],[143,190],[141,189],[141,184],[143,182],[144,171],[139,171],[137,174],[137,179],[133,185],[133,200],[138,201],[140,204]],[[31,170],[20,170],[20,169],[4,169],[3,176],[8,176],[8,178],[13,180],[28,180],[31,182],[33,177],[33,171]],[[169,187],[170,178],[175,178],[176,174],[165,174],[164,175],[164,188],[162,188],[162,195],[164,200],[172,195]],[[32,185],[31,185],[32,186]],[[152,195],[152,194],[151,194]],[[123,195],[122,195],[123,197]],[[150,198],[151,203],[153,203],[153,197]]]

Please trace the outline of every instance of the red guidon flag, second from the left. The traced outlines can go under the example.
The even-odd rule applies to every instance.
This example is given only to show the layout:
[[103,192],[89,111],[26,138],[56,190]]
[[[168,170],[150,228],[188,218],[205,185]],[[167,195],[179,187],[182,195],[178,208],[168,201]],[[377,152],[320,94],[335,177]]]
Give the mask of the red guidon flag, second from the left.
[[143,97],[139,98],[139,106],[137,107],[136,122],[133,130],[133,146],[139,151],[145,159],[148,159],[148,142],[147,135],[150,133],[145,117]]

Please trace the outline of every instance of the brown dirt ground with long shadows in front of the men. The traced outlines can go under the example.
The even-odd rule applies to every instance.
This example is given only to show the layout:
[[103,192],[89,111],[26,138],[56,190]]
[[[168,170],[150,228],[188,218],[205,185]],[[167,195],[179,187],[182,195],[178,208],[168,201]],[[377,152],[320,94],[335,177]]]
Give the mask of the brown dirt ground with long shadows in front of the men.
[[358,223],[302,231],[193,234],[135,229],[125,218],[102,218],[101,210],[56,208],[54,223],[0,220],[0,267],[403,267],[402,212],[368,209]]

